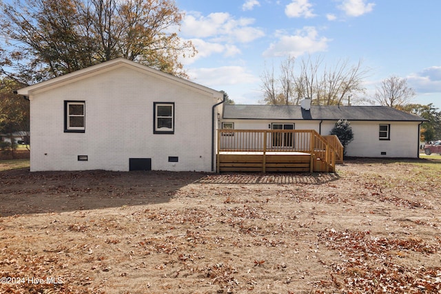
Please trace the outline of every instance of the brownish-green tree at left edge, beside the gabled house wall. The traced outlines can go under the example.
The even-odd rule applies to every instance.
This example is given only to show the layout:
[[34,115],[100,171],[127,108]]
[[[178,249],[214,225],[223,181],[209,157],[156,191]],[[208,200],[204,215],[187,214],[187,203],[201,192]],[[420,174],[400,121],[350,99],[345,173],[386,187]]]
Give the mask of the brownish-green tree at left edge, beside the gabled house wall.
[[0,134],[6,134],[10,138],[12,158],[15,147],[12,134],[29,134],[29,101],[13,93],[21,86],[10,78],[0,80]]

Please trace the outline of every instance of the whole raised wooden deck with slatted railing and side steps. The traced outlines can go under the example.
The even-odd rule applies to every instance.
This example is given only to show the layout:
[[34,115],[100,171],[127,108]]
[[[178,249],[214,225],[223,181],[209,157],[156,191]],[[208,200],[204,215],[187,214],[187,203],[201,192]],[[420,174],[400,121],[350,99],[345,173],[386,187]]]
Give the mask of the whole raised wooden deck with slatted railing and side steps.
[[217,171],[334,172],[338,151],[329,141],[336,143],[314,130],[221,129]]

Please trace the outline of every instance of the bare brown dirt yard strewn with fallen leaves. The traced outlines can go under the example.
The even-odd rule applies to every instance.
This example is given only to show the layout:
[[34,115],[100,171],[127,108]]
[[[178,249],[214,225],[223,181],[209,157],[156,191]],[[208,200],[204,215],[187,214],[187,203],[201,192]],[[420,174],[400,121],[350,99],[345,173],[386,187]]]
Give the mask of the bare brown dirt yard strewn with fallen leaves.
[[441,161],[0,172],[1,293],[441,293]]

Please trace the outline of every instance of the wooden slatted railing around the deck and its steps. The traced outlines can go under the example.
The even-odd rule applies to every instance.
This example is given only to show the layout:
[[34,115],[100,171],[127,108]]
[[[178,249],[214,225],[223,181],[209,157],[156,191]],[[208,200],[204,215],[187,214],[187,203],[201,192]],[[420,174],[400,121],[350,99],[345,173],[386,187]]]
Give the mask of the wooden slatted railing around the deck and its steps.
[[311,171],[320,160],[335,170],[338,138],[326,139],[311,129],[219,129],[219,152],[301,152],[311,154]]

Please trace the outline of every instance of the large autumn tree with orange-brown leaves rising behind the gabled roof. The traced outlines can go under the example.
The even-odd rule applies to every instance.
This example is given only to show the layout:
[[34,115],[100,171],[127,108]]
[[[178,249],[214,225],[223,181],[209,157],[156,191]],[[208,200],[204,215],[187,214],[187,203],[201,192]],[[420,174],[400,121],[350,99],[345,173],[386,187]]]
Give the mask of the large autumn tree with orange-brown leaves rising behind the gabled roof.
[[186,76],[178,58],[196,50],[177,34],[182,18],[172,0],[1,3],[0,25],[8,40],[8,50],[0,51],[1,70],[34,83],[123,57]]

